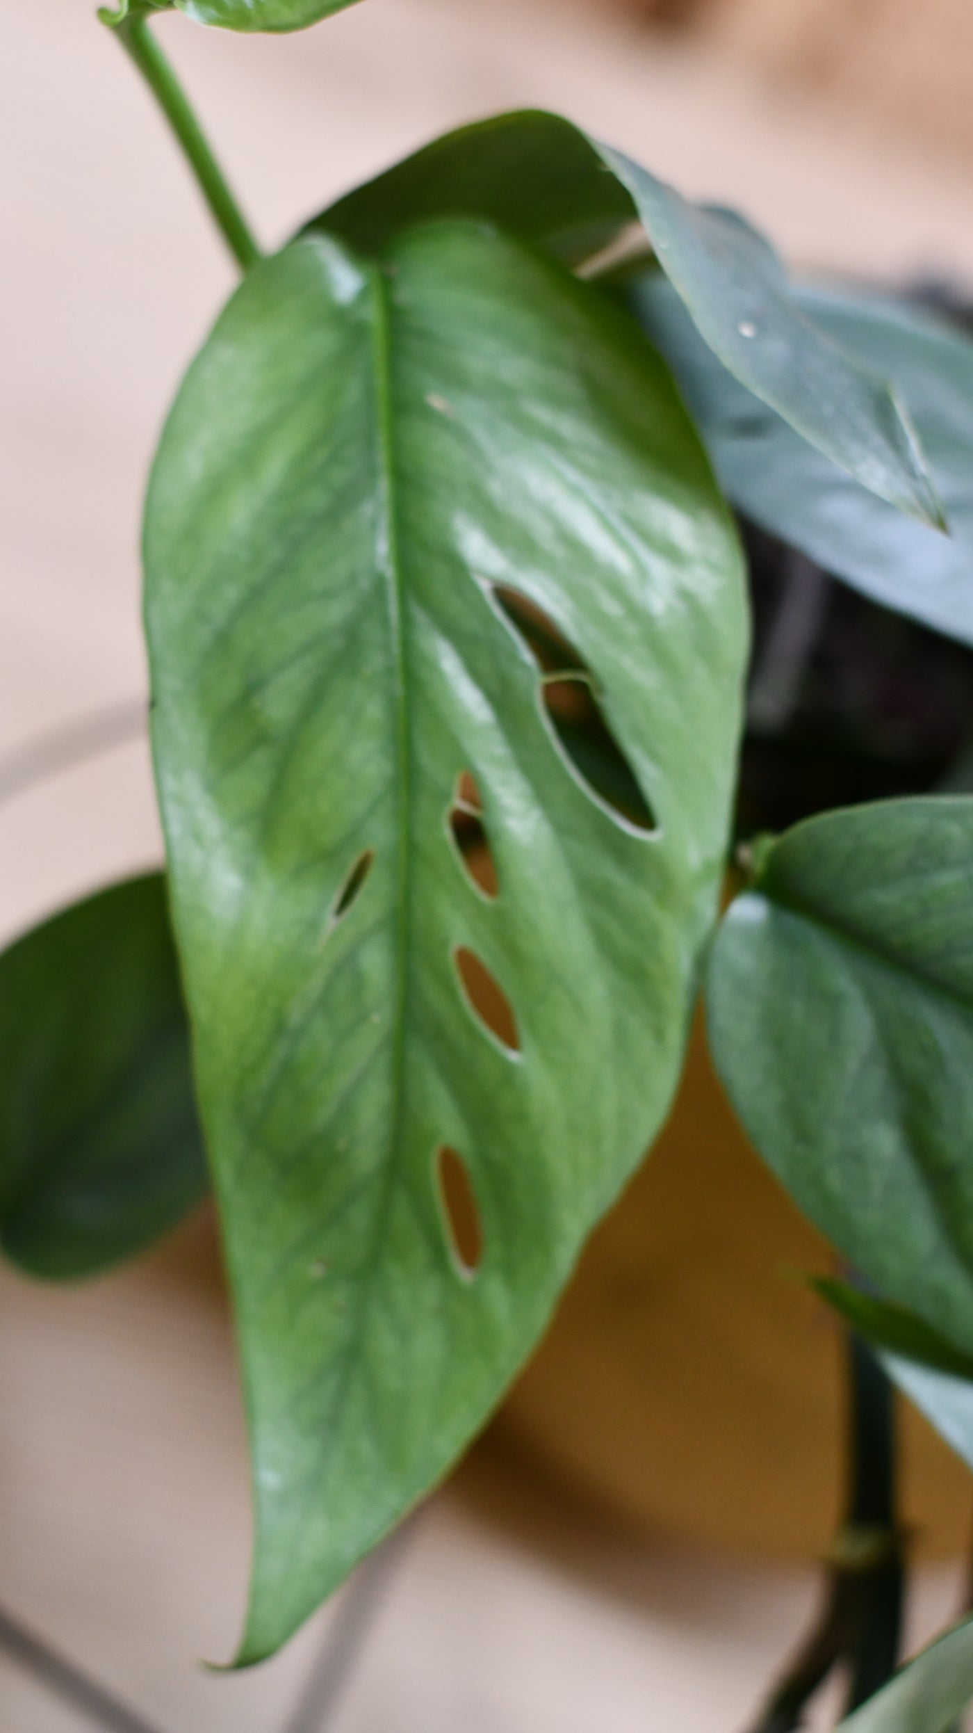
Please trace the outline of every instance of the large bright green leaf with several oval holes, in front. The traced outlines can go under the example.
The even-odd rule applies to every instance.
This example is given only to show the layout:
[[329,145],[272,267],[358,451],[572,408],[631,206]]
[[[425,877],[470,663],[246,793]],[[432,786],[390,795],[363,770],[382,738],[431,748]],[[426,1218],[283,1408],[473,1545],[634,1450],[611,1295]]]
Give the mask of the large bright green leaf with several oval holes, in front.
[[[635,326],[483,224],[256,267],[173,409],[145,560],[255,1660],[462,1449],[667,1111],[725,846],[741,567]],[[654,832],[564,756],[511,593],[590,671]],[[495,896],[455,851],[462,778]]]

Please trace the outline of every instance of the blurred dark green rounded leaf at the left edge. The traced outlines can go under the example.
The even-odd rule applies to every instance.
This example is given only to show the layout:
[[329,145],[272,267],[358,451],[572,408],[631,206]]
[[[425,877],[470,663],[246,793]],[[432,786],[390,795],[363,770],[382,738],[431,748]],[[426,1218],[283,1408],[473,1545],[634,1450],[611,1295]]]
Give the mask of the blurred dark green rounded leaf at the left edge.
[[206,1191],[159,875],[100,891],[0,957],[0,1239],[92,1275]]

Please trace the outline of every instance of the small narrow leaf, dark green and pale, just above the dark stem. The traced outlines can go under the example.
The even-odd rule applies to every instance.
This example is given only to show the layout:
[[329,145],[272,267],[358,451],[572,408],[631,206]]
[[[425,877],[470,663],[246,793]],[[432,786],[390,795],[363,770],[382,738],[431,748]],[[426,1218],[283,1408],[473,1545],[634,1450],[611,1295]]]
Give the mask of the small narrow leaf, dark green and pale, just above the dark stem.
[[973,1468],[973,1359],[905,1307],[876,1300],[847,1282],[814,1286],[878,1350],[900,1390]]

